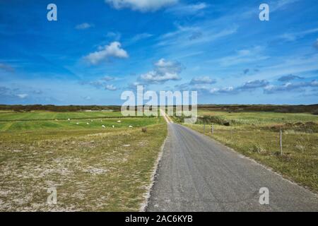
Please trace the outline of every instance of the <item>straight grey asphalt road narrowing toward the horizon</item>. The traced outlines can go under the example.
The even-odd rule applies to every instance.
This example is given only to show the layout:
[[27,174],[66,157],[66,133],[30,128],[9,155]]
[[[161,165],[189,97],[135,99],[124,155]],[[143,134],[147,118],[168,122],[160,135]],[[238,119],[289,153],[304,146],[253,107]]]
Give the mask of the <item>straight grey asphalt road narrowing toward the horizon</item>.
[[147,211],[318,211],[316,194],[187,127],[168,131]]

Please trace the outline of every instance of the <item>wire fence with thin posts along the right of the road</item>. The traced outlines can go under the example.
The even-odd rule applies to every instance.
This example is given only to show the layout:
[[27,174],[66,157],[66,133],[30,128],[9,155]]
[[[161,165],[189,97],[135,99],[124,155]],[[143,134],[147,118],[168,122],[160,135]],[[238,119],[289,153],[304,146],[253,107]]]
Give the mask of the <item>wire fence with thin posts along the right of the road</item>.
[[252,153],[289,155],[318,153],[318,134],[298,131],[298,127],[262,128],[257,126],[220,126],[202,124],[199,130],[218,141]]

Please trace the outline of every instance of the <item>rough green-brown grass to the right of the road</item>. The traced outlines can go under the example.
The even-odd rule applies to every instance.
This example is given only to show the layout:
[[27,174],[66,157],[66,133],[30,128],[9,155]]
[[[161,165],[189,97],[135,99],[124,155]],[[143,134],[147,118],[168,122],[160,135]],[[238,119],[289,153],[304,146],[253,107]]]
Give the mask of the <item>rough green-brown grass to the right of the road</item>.
[[[211,114],[214,115],[214,112]],[[245,121],[240,121],[240,124],[232,123],[231,126],[213,124],[213,135],[211,124],[206,125],[205,132],[203,124],[184,125],[220,141],[318,193],[317,116],[273,112],[258,112],[252,116],[249,112],[220,112],[220,114],[228,121],[242,119]],[[283,155],[280,154],[279,145],[281,127]]]

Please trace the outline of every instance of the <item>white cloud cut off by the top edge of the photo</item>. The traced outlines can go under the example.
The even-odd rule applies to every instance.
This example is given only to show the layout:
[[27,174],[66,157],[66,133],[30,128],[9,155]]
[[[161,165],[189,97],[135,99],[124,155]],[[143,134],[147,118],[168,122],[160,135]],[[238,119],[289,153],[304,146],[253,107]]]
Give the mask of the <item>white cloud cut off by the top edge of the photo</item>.
[[160,8],[177,4],[178,0],[105,0],[116,9],[131,8],[134,11],[157,11]]

